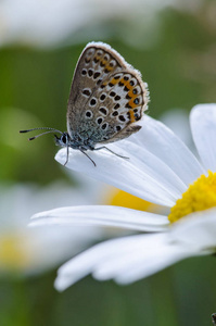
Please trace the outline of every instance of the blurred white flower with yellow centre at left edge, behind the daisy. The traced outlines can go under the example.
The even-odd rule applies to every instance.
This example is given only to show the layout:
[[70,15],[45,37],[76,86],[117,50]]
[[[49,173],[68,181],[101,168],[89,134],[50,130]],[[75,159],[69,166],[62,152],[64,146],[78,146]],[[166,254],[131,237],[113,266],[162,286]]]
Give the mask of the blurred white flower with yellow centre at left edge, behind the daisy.
[[46,188],[34,185],[0,187],[0,273],[29,275],[56,267],[79,252],[89,242],[103,236],[97,227],[50,226],[29,228],[29,216],[56,204],[89,204],[100,202],[101,187],[86,183],[72,189],[55,183]]

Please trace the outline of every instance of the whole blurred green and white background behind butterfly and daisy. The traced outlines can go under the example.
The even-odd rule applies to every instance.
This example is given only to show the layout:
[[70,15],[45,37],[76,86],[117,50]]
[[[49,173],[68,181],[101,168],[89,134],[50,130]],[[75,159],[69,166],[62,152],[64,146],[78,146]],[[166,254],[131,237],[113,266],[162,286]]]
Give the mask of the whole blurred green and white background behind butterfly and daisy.
[[192,150],[189,112],[216,102],[215,0],[0,1],[0,325],[212,325],[214,256],[182,261],[126,287],[87,277],[59,293],[58,266],[119,230],[26,227],[34,213],[56,206],[125,204],[117,189],[60,166],[51,135],[29,142],[18,134],[65,130],[73,72],[92,40],[109,42],[142,73],[149,114]]

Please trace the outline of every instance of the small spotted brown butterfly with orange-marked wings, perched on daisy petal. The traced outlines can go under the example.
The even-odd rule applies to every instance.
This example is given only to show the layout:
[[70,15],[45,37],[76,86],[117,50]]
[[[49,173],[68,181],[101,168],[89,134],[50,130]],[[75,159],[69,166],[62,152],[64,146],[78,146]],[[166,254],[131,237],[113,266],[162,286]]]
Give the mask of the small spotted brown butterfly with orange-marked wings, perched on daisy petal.
[[[36,139],[49,133],[59,133],[55,143],[68,149],[87,150],[111,149],[103,146],[129,137],[140,130],[136,125],[148,109],[149,91],[139,71],[109,45],[90,42],[84,49],[72,82],[67,103],[67,131],[42,127],[47,131],[29,138]],[[97,147],[97,145],[102,145]],[[116,154],[116,153],[114,153]],[[116,154],[117,156],[120,156]],[[124,156],[120,156],[124,158]]]

